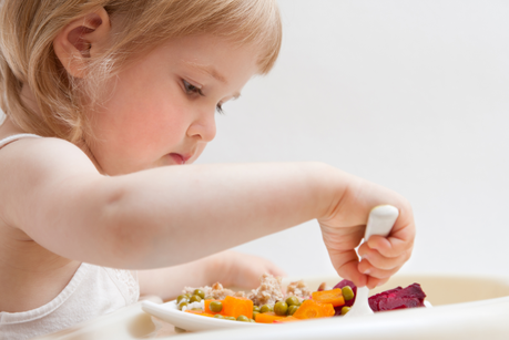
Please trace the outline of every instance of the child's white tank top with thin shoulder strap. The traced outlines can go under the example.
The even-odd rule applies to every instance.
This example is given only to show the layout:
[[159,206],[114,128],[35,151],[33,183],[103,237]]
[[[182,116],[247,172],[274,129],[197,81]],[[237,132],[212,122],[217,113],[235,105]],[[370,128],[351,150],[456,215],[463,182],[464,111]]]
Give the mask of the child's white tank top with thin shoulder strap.
[[[19,134],[0,141],[0,148],[23,137]],[[71,281],[50,302],[22,311],[0,311],[0,339],[31,339],[132,305],[140,297],[135,271],[81,264]]]

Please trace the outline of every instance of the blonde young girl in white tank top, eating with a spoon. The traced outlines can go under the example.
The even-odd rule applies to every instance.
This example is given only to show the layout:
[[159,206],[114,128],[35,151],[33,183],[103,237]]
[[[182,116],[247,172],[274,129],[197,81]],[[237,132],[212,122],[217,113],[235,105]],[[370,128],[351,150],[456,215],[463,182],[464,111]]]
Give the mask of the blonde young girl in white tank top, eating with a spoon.
[[[3,0],[0,22],[3,338],[54,332],[140,291],[256,286],[281,270],[221,251],[313,218],[359,286],[409,258],[411,208],[386,188],[319,163],[192,165],[215,111],[274,65],[275,1]],[[359,261],[379,204],[399,218]]]

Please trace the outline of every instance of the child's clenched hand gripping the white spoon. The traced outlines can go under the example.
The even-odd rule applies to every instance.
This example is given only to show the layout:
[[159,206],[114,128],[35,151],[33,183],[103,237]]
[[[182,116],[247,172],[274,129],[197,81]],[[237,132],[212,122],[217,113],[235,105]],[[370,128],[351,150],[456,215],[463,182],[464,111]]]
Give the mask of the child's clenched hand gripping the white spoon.
[[[381,204],[397,207],[399,217],[387,238],[373,236],[358,248],[359,261],[355,248],[370,209]],[[359,287],[385,284],[410,258],[416,233],[411,207],[387,188],[356,178],[318,223],[334,268]]]

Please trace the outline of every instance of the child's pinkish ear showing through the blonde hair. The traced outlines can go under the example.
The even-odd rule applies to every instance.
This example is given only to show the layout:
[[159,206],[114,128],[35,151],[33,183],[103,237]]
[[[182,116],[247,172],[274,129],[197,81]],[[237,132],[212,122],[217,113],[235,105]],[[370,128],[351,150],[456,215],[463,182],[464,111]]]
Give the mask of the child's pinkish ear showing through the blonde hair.
[[105,47],[110,30],[110,17],[103,8],[63,28],[53,40],[53,50],[69,74],[85,75],[88,60]]

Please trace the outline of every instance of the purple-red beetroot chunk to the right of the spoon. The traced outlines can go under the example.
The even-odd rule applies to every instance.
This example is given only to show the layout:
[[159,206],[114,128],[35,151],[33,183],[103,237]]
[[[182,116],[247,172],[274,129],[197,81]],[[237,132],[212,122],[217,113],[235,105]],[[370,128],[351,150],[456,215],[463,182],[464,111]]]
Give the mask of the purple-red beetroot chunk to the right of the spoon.
[[413,284],[407,288],[397,287],[369,297],[369,307],[373,311],[395,310],[403,308],[425,307],[426,293],[419,284]]

